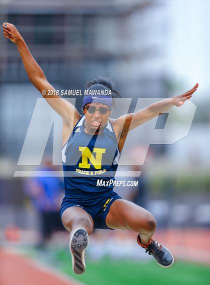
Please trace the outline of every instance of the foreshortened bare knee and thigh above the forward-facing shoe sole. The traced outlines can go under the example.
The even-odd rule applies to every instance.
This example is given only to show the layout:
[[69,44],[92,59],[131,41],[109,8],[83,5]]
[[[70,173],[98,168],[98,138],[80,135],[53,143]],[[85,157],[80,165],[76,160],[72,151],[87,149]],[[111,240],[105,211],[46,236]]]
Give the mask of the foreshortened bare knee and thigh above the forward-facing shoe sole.
[[69,232],[79,227],[86,229],[88,235],[93,232],[94,223],[92,217],[80,207],[69,207],[64,210],[61,220]]

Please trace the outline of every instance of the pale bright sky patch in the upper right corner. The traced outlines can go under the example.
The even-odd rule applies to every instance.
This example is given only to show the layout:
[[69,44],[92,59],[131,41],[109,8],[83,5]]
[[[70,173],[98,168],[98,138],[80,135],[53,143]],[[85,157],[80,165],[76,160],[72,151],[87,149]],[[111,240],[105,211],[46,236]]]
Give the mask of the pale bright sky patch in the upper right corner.
[[[199,83],[209,96],[209,1],[171,0],[168,3],[169,45],[167,64],[184,86]],[[204,98],[203,98],[204,99]]]

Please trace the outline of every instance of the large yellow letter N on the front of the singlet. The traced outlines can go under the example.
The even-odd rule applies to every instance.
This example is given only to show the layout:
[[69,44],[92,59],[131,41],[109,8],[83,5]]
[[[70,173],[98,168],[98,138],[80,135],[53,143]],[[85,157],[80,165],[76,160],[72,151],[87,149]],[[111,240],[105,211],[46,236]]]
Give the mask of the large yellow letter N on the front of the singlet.
[[92,163],[95,169],[101,169],[102,164],[102,154],[105,153],[105,148],[93,148],[93,152],[96,153],[95,157],[92,155],[88,147],[79,146],[79,151],[81,151],[81,163],[78,167],[90,168],[89,161]]

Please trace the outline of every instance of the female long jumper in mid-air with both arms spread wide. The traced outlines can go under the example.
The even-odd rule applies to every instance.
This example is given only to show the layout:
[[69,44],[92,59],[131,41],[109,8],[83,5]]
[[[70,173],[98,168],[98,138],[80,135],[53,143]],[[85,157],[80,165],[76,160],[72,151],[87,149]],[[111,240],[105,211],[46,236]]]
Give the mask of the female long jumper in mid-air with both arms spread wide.
[[[16,45],[28,78],[35,88],[41,94],[43,90],[45,94],[48,90],[54,90],[14,25],[3,23],[3,35]],[[159,265],[172,265],[171,252],[152,238],[156,228],[153,215],[119,197],[108,183],[98,187],[97,180],[99,178],[106,182],[114,179],[114,174],[107,173],[116,171],[119,153],[128,131],[158,116],[159,113],[167,112],[172,106],[182,106],[197,88],[198,84],[182,95],[158,101],[136,113],[125,114],[117,119],[110,118],[111,95],[115,92],[113,84],[101,77],[87,83],[86,90],[99,90],[99,95],[84,96],[83,116],[61,97],[44,96],[47,103],[62,118],[63,170],[64,173],[73,173],[64,175],[65,196],[60,215],[64,227],[70,232],[69,249],[75,273],[81,274],[85,271],[85,251],[88,235],[92,233],[93,228],[131,229],[137,233],[138,244],[152,255]],[[100,92],[105,90],[109,96],[101,96]]]

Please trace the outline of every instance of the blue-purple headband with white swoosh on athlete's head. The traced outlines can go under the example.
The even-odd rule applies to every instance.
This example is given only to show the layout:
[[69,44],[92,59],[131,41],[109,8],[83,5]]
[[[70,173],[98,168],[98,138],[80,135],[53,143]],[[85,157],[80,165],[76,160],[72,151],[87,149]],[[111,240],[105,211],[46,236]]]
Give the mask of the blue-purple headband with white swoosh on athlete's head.
[[112,107],[111,90],[102,84],[94,84],[84,91],[82,108],[89,103],[100,103]]

